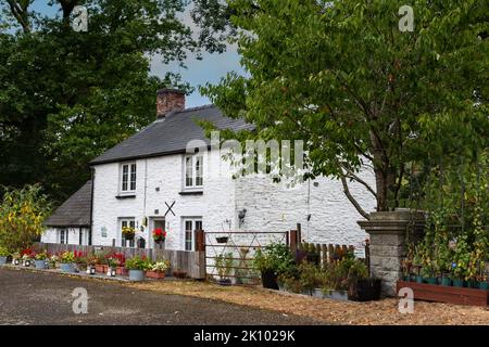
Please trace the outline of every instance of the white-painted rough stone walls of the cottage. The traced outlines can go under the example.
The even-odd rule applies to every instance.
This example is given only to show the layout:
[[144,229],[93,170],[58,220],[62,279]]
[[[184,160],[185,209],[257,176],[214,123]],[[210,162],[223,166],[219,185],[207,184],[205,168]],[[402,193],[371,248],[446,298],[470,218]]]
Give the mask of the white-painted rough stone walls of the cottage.
[[[152,246],[153,218],[162,218],[172,205],[175,216],[165,218],[167,249],[185,249],[185,217],[201,217],[205,231],[228,230],[284,232],[302,226],[302,239],[313,243],[348,244],[360,247],[367,236],[356,224],[362,217],[346,197],[341,182],[318,178],[294,188],[273,183],[258,175],[233,180],[226,175],[228,164],[218,159],[218,152],[204,155],[202,195],[180,195],[183,191],[184,155],[136,160],[137,190],[135,198],[118,195],[120,163],[97,165],[93,179],[93,245],[121,245],[121,218],[134,218],[140,229],[145,217],[149,226],[137,236]],[[220,175],[221,172],[221,175]],[[374,184],[372,172],[362,178]],[[156,191],[159,189],[159,191]],[[350,183],[352,194],[366,210],[375,209],[374,197],[360,184]],[[238,213],[246,208],[244,222],[239,226]],[[308,221],[308,215],[311,215]],[[102,235],[102,230],[106,236]],[[77,230],[70,233],[70,243],[78,242]],[[42,242],[59,242],[58,231],[48,230]],[[150,241],[148,243],[148,241]]]

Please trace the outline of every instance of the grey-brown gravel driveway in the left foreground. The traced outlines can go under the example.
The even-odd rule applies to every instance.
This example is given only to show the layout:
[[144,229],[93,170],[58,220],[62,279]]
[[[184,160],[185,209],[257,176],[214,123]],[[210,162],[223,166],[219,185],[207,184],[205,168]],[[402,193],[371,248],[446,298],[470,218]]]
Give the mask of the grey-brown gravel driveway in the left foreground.
[[[73,312],[75,288],[88,293],[88,313]],[[80,306],[78,306],[80,307]],[[116,283],[0,268],[0,324],[317,324],[297,316]]]

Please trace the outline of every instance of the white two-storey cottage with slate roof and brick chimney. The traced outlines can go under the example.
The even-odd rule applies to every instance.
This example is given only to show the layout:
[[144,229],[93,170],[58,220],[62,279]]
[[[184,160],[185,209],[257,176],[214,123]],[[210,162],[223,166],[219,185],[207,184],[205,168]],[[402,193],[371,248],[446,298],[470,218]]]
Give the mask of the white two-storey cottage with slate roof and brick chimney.
[[[185,108],[185,94],[178,90],[160,90],[156,108],[155,121],[90,163],[89,235],[62,239],[64,227],[55,226],[45,233],[43,242],[142,246],[138,241],[143,240],[145,247],[154,247],[152,230],[163,228],[166,249],[192,250],[198,229],[277,232],[297,223],[308,242],[365,240],[356,224],[360,215],[340,182],[319,178],[287,188],[258,175],[233,179],[229,163],[212,149],[197,120],[233,130],[250,125],[225,117],[213,105]],[[363,172],[363,178],[373,183],[371,172]],[[375,208],[375,200],[363,187],[351,183],[350,191],[367,210]],[[125,226],[137,229],[136,241],[123,239]]]

